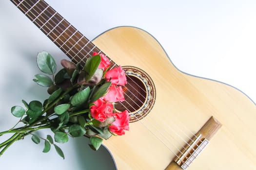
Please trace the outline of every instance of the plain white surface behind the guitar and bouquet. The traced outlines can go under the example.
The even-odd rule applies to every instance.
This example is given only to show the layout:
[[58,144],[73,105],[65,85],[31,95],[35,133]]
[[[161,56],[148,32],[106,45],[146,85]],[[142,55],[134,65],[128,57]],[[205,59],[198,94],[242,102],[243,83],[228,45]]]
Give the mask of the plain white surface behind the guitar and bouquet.
[[[89,39],[117,26],[139,27],[159,41],[181,71],[232,85],[256,101],[255,0],[46,2]],[[43,50],[57,62],[66,57],[14,4],[1,0],[0,131],[18,121],[10,108],[21,105],[21,99],[29,102],[47,98],[46,89],[32,81],[39,73],[37,53]],[[0,157],[0,166],[11,170],[91,170],[95,162],[100,162],[96,169],[113,169],[106,151],[92,152],[87,143],[87,139],[79,138],[60,144],[66,156],[63,161],[54,150],[41,153],[43,144],[36,145],[28,137]]]

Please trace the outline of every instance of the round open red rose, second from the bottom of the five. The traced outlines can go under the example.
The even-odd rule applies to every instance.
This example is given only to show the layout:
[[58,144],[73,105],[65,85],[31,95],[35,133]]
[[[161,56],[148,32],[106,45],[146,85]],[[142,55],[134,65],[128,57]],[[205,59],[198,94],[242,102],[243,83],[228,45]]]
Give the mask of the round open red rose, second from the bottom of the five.
[[93,102],[95,105],[90,107],[91,115],[94,119],[99,121],[105,121],[106,118],[113,116],[113,104],[105,102],[102,99],[98,99]]

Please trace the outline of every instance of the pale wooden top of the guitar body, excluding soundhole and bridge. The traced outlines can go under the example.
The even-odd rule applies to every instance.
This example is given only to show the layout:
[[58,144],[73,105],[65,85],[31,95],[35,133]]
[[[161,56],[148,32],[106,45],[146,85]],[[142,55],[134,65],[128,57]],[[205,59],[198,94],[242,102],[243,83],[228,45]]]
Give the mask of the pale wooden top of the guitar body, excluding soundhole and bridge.
[[[93,43],[121,66],[147,72],[156,86],[156,102],[149,115],[131,123],[125,136],[104,141],[119,170],[165,169],[177,152],[171,143],[182,144],[186,138],[177,127],[197,133],[211,116],[222,127],[189,170],[256,167],[256,105],[246,95],[229,85],[180,72],[157,40],[143,30],[118,27]],[[170,135],[172,131],[180,137]]]

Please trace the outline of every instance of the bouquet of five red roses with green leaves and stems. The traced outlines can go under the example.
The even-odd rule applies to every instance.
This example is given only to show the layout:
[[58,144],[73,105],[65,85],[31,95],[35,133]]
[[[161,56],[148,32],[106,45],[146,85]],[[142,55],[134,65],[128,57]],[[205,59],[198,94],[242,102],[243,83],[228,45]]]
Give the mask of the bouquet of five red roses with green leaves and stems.
[[[44,141],[43,153],[54,146],[64,159],[56,143],[68,142],[69,136],[87,136],[90,147],[98,150],[103,139],[112,135],[124,135],[129,130],[128,111],[118,112],[115,102],[124,101],[124,70],[119,66],[109,69],[111,63],[104,54],[94,52],[84,67],[68,60],[61,60],[63,68],[55,74],[57,65],[46,51],[38,54],[37,64],[44,74],[36,74],[34,81],[48,87],[49,98],[44,102],[22,100],[24,107],[13,106],[11,113],[20,118],[11,129],[0,132],[13,134],[0,143],[2,155],[15,141],[31,135],[33,142]],[[16,127],[19,123],[23,126]],[[50,128],[54,136],[35,134],[39,129]]]

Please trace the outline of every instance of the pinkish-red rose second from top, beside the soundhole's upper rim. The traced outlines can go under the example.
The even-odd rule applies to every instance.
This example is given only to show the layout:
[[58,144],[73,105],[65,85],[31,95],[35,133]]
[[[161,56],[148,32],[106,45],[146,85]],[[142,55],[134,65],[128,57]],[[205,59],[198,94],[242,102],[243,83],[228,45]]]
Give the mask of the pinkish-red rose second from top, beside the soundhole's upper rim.
[[119,66],[118,68],[113,68],[108,70],[105,74],[105,78],[107,81],[111,81],[112,85],[125,85],[126,76],[124,70]]

